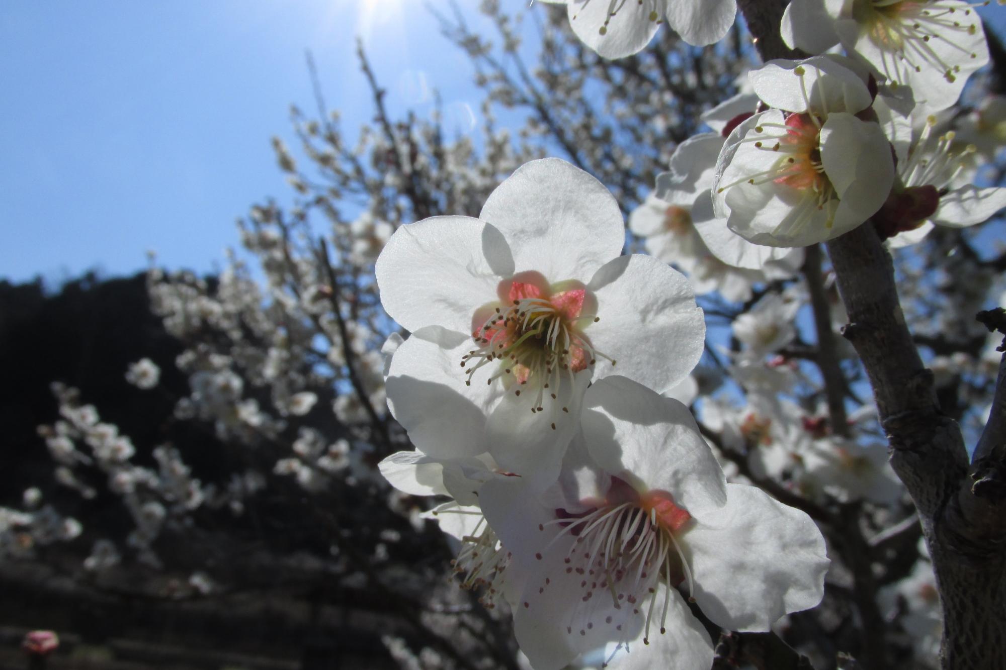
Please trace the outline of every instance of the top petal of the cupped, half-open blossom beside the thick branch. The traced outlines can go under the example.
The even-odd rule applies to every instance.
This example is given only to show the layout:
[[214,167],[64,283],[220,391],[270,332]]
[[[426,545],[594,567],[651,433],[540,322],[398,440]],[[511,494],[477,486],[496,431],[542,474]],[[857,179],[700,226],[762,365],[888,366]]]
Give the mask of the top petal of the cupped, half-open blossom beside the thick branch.
[[[804,72],[802,76],[795,71],[798,67]],[[759,98],[770,107],[787,112],[855,114],[873,102],[863,79],[830,55],[806,60],[770,60],[751,70],[748,76]]]

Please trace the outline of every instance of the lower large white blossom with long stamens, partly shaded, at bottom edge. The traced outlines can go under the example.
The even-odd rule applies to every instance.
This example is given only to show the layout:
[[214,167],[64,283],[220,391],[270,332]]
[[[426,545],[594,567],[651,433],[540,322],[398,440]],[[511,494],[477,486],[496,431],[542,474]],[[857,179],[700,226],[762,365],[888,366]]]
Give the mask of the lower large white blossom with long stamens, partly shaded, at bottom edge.
[[514,631],[535,670],[591,657],[708,670],[712,647],[686,598],[733,631],[768,631],[820,602],[829,561],[817,526],[727,484],[684,405],[609,377],[585,407],[582,441],[541,497],[518,478],[479,492],[520,575]]

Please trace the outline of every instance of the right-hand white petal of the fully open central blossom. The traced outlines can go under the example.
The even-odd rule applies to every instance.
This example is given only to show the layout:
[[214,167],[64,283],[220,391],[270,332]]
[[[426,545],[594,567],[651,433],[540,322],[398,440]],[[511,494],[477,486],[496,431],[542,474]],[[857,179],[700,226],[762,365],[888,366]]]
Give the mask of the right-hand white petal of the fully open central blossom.
[[705,322],[685,277],[649,256],[615,259],[591,280],[598,323],[584,328],[596,376],[621,374],[658,391],[684,379],[702,356]]

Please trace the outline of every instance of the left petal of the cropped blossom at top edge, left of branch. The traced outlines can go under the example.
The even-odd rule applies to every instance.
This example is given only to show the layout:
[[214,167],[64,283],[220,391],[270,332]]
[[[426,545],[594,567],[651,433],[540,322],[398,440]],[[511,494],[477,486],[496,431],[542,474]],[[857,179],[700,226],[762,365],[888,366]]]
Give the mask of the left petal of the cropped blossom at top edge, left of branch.
[[611,17],[608,0],[585,3],[573,0],[567,5],[572,31],[580,41],[605,58],[621,58],[642,51],[660,27],[651,20],[653,9],[650,4],[622,2],[615,16]]

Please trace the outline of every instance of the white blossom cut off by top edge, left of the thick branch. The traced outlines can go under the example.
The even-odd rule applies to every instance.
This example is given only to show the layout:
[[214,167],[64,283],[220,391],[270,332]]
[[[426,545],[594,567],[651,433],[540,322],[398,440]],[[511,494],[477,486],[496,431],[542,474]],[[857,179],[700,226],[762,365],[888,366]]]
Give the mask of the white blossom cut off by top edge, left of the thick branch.
[[566,5],[579,39],[605,58],[638,53],[665,21],[689,44],[718,42],[733,25],[736,0],[542,0]]

